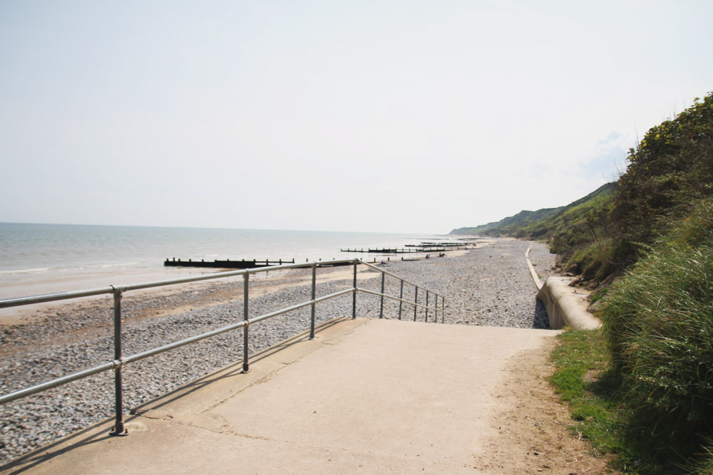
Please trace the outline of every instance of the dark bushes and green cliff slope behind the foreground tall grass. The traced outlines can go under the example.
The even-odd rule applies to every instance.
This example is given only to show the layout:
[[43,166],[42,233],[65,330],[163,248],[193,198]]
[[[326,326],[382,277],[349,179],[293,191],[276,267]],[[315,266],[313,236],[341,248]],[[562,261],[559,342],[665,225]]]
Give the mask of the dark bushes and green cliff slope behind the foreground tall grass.
[[567,207],[520,212],[451,233],[547,241],[566,271],[590,288],[608,286],[673,221],[713,195],[713,93],[652,127],[627,161],[618,182]]

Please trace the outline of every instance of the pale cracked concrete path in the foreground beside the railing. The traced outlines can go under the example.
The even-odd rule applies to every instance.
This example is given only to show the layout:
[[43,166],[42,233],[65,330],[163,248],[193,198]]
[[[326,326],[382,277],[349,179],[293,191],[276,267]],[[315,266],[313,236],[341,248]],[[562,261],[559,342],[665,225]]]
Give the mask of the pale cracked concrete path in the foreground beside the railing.
[[556,333],[332,320],[1,473],[482,473],[506,361]]

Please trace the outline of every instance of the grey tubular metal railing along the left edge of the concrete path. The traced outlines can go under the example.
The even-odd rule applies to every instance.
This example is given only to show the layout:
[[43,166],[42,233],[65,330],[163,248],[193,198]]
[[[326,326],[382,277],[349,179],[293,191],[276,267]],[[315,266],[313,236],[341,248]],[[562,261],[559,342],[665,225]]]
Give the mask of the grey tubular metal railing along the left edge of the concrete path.
[[[334,263],[343,263],[343,264],[347,264],[347,265],[349,265],[349,263],[354,263],[354,286],[352,288],[347,288],[342,291],[330,293],[329,295],[317,298],[316,297],[316,295],[317,295],[317,267],[333,266]],[[381,292],[370,291],[370,290],[367,290],[366,288],[359,288],[358,286],[356,286],[356,269],[359,266],[359,264],[363,264],[364,266],[367,266],[369,268],[372,268],[376,271],[381,272]],[[293,306],[285,307],[280,310],[275,310],[274,312],[265,313],[264,315],[250,318],[250,285],[249,285],[250,284],[250,274],[268,272],[268,271],[276,271],[276,270],[280,270],[280,269],[306,268],[306,267],[312,268],[312,299],[311,300],[305,301],[302,303],[298,303]],[[389,294],[384,293],[384,281],[385,281],[385,278],[387,275],[394,277],[396,279],[399,279],[399,281],[401,281],[399,297],[391,296]],[[177,285],[180,283],[207,281],[207,280],[212,280],[212,279],[216,279],[216,278],[225,278],[225,277],[232,277],[232,276],[242,276],[242,278],[244,279],[243,298],[242,298],[242,305],[243,305],[243,319],[242,319],[242,321],[240,321],[238,323],[233,323],[232,325],[226,325],[221,328],[216,328],[215,330],[211,330],[206,333],[201,333],[200,335],[195,335],[195,336],[192,336],[189,338],[185,338],[183,340],[175,341],[173,343],[168,343],[167,345],[163,345],[158,348],[152,348],[150,350],[146,350],[141,353],[136,353],[135,355],[130,355],[130,356],[123,355],[123,353],[121,351],[121,299],[122,299],[124,293],[126,293],[128,291],[138,291],[138,290],[142,290],[145,288],[173,286],[173,285]],[[404,300],[404,283],[408,283],[409,285],[415,287],[414,301]],[[21,298],[7,298],[4,300],[0,300],[0,308],[25,306],[25,305],[31,305],[34,303],[46,303],[46,302],[53,302],[53,301],[68,300],[68,299],[72,299],[72,298],[91,297],[91,296],[101,296],[101,295],[106,295],[106,294],[112,294],[113,295],[113,310],[114,310],[114,312],[113,312],[114,357],[113,357],[113,360],[111,360],[110,362],[106,362],[103,365],[91,367],[87,370],[74,372],[70,375],[66,375],[63,377],[58,377],[54,380],[42,382],[39,385],[26,387],[23,390],[18,390],[18,391],[11,392],[6,395],[1,395],[0,396],[0,404],[5,404],[7,402],[19,400],[23,397],[28,397],[28,396],[34,395],[38,392],[42,392],[45,390],[49,390],[53,387],[64,385],[68,382],[80,380],[85,377],[89,377],[91,375],[96,375],[100,372],[114,370],[114,398],[115,398],[115,402],[116,402],[116,404],[115,404],[116,422],[114,424],[114,427],[112,428],[111,435],[126,435],[127,432],[125,430],[124,423],[123,423],[123,384],[122,384],[122,380],[121,380],[121,368],[124,365],[127,365],[130,362],[143,360],[146,357],[158,355],[159,353],[163,353],[168,350],[173,350],[174,348],[179,348],[181,346],[188,345],[190,343],[195,343],[197,341],[204,340],[205,338],[210,338],[215,335],[220,335],[221,333],[225,333],[230,330],[236,330],[237,328],[242,328],[243,329],[242,371],[248,372],[250,370],[250,355],[248,354],[249,350],[250,350],[250,332],[249,332],[250,325],[252,325],[253,323],[258,323],[262,320],[266,320],[268,318],[275,317],[277,315],[282,315],[283,313],[287,313],[292,310],[297,310],[299,308],[311,306],[312,307],[312,318],[311,318],[310,329],[309,329],[309,339],[313,340],[314,339],[314,320],[315,320],[314,306],[319,302],[328,300],[329,298],[342,296],[342,295],[345,295],[348,293],[353,294],[353,297],[352,297],[352,318],[356,318],[356,293],[362,292],[362,293],[367,293],[367,294],[381,297],[380,308],[379,308],[379,318],[384,318],[384,298],[390,298],[395,301],[399,301],[399,320],[401,320],[403,305],[404,305],[404,303],[406,303],[407,305],[414,306],[414,321],[416,321],[416,315],[417,315],[418,309],[424,308],[425,312],[426,312],[426,319],[425,319],[426,322],[429,321],[429,310],[434,311],[434,319],[433,319],[434,323],[438,322],[438,299],[440,298],[441,299],[441,323],[443,323],[445,321],[446,298],[444,298],[443,296],[441,296],[438,293],[435,293],[434,291],[429,291],[425,288],[421,288],[421,290],[426,291],[426,303],[425,303],[425,305],[422,305],[418,301],[419,300],[419,288],[421,288],[421,287],[419,287],[416,283],[406,281],[406,279],[404,279],[404,278],[396,276],[395,274],[390,273],[388,271],[384,271],[383,269],[381,269],[377,266],[374,266],[370,263],[361,261],[361,259],[353,259],[353,260],[348,259],[348,260],[343,260],[343,261],[329,261],[328,263],[311,262],[311,263],[285,264],[282,266],[270,266],[270,267],[260,267],[260,268],[252,268],[252,269],[242,269],[240,271],[217,272],[217,273],[211,273],[211,274],[207,274],[207,275],[203,275],[203,276],[175,278],[175,279],[166,280],[166,281],[155,281],[155,282],[146,282],[146,283],[135,283],[135,284],[124,285],[124,286],[108,286],[108,287],[102,287],[102,288],[93,288],[93,289],[85,290],[85,291],[49,293],[49,294],[41,295],[41,296],[31,296],[31,297],[21,297]],[[435,305],[433,307],[429,307],[429,296],[434,296]]]

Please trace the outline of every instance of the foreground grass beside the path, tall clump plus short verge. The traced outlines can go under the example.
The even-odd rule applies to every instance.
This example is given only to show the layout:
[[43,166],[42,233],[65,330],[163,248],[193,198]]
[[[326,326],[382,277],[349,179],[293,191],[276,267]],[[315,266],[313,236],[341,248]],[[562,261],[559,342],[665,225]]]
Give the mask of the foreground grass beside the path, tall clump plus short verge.
[[555,390],[617,468],[713,474],[713,199],[600,293],[601,331],[567,331]]

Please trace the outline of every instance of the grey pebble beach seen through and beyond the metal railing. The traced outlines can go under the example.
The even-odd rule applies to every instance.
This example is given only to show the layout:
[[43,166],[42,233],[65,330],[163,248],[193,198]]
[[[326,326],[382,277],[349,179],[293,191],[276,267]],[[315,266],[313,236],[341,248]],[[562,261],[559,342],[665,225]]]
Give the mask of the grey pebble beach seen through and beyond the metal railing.
[[[478,249],[463,255],[421,261],[398,257],[380,268],[417,283],[418,301],[426,291],[446,296],[444,321],[458,325],[492,325],[513,328],[548,328],[547,313],[535,300],[535,288],[525,262],[533,244],[513,239],[488,239]],[[555,255],[543,244],[533,244],[530,259],[543,278],[553,273]],[[326,275],[344,268],[322,268]],[[379,291],[381,278],[359,280],[359,287]],[[269,285],[264,278],[250,280],[250,315],[308,301],[311,286],[304,285],[309,271],[284,271],[287,286],[279,292],[260,295]],[[274,273],[273,273],[274,276]],[[319,283],[317,297],[352,286],[352,278]],[[398,296],[400,281],[386,276],[386,293]],[[404,299],[414,301],[414,287],[404,286]],[[433,306],[433,293],[429,304]],[[359,293],[357,316],[378,318],[381,299]],[[439,302],[441,306],[441,302]],[[414,308],[401,306],[401,318],[414,320]],[[232,281],[182,286],[173,293],[128,293],[122,301],[123,354],[198,335],[242,320],[242,278]],[[70,303],[51,310],[48,318],[26,325],[0,327],[0,394],[8,394],[72,372],[101,365],[113,359],[111,298],[90,303]],[[352,315],[352,294],[317,304],[317,324],[338,316]],[[386,299],[384,318],[399,318],[399,303]],[[416,310],[423,321],[426,313]],[[429,321],[434,313],[429,312]],[[439,311],[438,321],[443,319]],[[250,327],[250,352],[275,345],[309,329],[309,307],[263,320]],[[185,385],[213,370],[242,358],[242,331],[223,333],[168,353],[130,363],[123,368],[126,412]],[[84,429],[113,414],[113,372],[68,383],[0,406],[0,465],[29,451]]]

